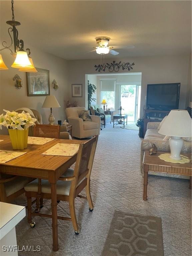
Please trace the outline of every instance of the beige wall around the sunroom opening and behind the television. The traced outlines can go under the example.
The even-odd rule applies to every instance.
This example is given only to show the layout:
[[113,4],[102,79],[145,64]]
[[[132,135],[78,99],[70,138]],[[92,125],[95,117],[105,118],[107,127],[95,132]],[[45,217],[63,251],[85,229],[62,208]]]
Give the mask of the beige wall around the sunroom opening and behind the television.
[[[129,61],[134,62],[133,70],[131,72],[142,72],[141,81],[141,116],[142,108],[145,105],[145,96],[147,91],[147,84],[152,83],[181,83],[180,103],[179,108],[183,109],[186,105],[186,98],[188,93],[188,69],[189,69],[189,55],[178,56],[152,56],[152,57],[130,57],[127,59],[105,59],[105,62],[116,61]],[[98,74],[95,71],[95,64],[100,64],[100,59],[95,60],[71,60],[68,61],[69,65],[69,84],[82,83],[83,92],[87,87],[86,74]],[[121,73],[127,73],[127,70]],[[107,70],[102,73],[109,73]],[[115,73],[115,72],[114,72]],[[86,85],[86,86],[85,86]],[[71,87],[70,87],[71,88]],[[71,90],[71,89],[70,89]],[[71,93],[69,93],[71,97]],[[82,98],[70,98],[76,100],[80,106],[87,107],[87,95],[83,93]]]

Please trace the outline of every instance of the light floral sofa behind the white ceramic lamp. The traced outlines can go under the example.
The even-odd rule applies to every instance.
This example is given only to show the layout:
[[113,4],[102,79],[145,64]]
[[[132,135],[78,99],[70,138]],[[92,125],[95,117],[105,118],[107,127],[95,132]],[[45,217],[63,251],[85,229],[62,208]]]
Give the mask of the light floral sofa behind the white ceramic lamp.
[[[152,148],[153,143],[156,145],[158,151],[163,152],[170,152],[169,148],[169,138],[165,138],[165,135],[162,135],[158,133],[160,122],[149,122],[147,124],[147,131],[145,133],[145,137],[141,142],[141,174],[143,175],[143,156],[144,151],[149,150]],[[167,136],[166,136],[167,137]],[[191,153],[191,138],[183,138],[184,144],[183,148],[181,150],[181,153]],[[165,173],[155,173],[155,172],[149,172],[149,174],[152,175],[160,175],[160,176],[169,176],[169,177],[176,177],[176,178],[184,178],[188,179],[188,176],[181,176],[181,175],[171,175],[171,174],[165,174]]]

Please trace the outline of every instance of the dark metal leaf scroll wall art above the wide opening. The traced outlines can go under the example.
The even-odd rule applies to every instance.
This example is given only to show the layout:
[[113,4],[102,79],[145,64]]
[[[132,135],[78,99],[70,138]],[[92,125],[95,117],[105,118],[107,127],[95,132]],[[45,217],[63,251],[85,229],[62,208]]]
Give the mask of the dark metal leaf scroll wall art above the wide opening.
[[98,71],[98,72],[105,72],[106,68],[108,68],[109,72],[118,72],[120,70],[120,68],[122,68],[122,70],[125,70],[125,69],[128,69],[129,71],[132,68],[132,66],[134,66],[135,63],[133,62],[132,64],[129,63],[129,62],[121,62],[119,61],[119,63],[115,63],[115,60],[113,60],[113,62],[111,63],[103,63],[103,64],[99,64],[99,65],[95,65],[94,67],[96,68],[95,71]]

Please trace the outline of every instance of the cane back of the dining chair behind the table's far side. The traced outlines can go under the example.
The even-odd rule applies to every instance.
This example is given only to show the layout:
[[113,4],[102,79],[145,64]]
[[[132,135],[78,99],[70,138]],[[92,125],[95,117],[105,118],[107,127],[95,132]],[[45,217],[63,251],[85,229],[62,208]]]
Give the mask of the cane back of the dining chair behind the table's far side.
[[34,137],[59,139],[60,125],[36,124],[33,128]]

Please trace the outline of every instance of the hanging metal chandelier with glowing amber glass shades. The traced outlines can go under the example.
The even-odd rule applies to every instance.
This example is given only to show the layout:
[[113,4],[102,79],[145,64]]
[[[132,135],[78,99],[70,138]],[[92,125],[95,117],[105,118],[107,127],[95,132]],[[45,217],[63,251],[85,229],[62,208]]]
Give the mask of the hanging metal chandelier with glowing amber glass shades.
[[[11,0],[11,9],[12,9],[12,20],[7,21],[6,23],[12,27],[8,28],[8,34],[11,38],[11,44],[7,46],[7,42],[3,41],[2,45],[3,48],[0,51],[8,49],[11,51],[11,55],[15,58],[15,61],[11,65],[12,68],[18,68],[19,71],[23,72],[37,72],[36,68],[34,67],[32,58],[30,55],[30,49],[27,48],[26,52],[24,50],[24,42],[22,39],[18,39],[18,30],[16,26],[21,25],[20,22],[15,21],[14,17],[14,7],[13,7],[13,0]],[[11,37],[11,32],[13,32],[13,39]],[[11,50],[11,46],[14,45],[14,52]],[[2,55],[0,54],[0,70],[7,70],[8,67],[5,65]]]

